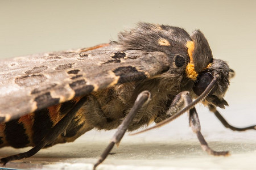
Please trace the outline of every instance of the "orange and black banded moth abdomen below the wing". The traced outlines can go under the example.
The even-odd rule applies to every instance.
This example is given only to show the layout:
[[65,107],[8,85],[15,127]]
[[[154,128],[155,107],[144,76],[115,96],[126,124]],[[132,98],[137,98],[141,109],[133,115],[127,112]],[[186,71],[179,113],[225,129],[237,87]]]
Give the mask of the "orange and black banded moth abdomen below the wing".
[[[44,140],[48,133],[51,133],[52,128],[72,109],[77,101],[79,101],[79,98],[40,109],[18,119],[0,124],[0,147],[22,148],[37,145]],[[60,134],[51,145],[74,141],[80,136],[77,136],[77,134],[80,133],[82,128],[91,129],[83,127],[84,124],[83,114],[78,112],[65,132]]]

